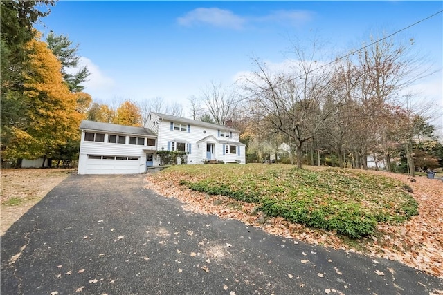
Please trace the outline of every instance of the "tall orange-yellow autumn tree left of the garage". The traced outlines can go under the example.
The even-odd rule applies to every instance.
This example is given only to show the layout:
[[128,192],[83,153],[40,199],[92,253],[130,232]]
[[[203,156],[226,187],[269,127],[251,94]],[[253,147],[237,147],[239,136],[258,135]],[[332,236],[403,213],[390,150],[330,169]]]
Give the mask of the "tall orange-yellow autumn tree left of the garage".
[[38,33],[26,50],[30,59],[22,97],[26,124],[12,126],[5,153],[11,158],[50,158],[68,140],[79,139],[82,115],[76,111],[78,97],[63,82],[60,61]]

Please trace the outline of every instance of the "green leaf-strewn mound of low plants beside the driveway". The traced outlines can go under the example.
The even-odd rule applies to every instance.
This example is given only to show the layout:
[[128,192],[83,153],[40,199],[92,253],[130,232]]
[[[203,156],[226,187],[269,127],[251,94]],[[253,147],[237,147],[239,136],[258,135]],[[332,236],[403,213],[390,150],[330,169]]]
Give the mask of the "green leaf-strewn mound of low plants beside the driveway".
[[254,203],[267,216],[351,238],[372,234],[377,222],[404,222],[418,214],[417,202],[404,183],[356,170],[183,165],[159,177],[179,177],[181,185],[194,191]]

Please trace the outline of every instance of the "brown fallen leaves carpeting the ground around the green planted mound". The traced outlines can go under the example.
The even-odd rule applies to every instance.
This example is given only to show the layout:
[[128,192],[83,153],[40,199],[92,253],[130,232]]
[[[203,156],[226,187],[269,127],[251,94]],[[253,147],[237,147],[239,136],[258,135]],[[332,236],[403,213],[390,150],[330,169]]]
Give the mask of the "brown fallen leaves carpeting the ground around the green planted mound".
[[[408,175],[381,171],[352,169],[347,171],[365,173],[369,177],[381,175],[385,178],[395,178],[410,185],[413,189],[413,197],[419,204],[419,215],[413,216],[404,223],[392,225],[388,222],[379,223],[373,236],[350,243],[349,240],[334,231],[305,227],[284,220],[282,217],[265,218],[264,224],[259,223],[257,220],[263,215],[260,211],[255,213],[255,204],[235,201],[225,196],[209,196],[206,193],[187,189],[183,185],[180,186],[179,182],[183,180],[183,173],[177,170],[168,171],[167,178],[163,173],[148,175],[147,188],[168,198],[181,200],[185,203],[183,209],[195,213],[213,214],[219,218],[239,220],[246,225],[261,227],[269,234],[293,238],[296,243],[299,240],[333,249],[397,260],[410,267],[443,278],[443,183],[424,177],[418,177],[416,178],[417,182],[411,183],[408,181]],[[190,177],[188,180],[197,181],[197,177]],[[398,245],[402,247],[398,247]]]

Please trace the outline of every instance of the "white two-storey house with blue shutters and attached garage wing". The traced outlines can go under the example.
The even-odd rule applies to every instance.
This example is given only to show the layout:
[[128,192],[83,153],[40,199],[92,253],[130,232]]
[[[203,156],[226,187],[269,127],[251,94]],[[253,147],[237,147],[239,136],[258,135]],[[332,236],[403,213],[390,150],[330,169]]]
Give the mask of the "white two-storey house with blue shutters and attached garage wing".
[[156,151],[186,151],[188,164],[246,162],[239,131],[229,126],[150,113],[145,127],[83,120],[80,129],[79,174],[144,173],[163,164]]

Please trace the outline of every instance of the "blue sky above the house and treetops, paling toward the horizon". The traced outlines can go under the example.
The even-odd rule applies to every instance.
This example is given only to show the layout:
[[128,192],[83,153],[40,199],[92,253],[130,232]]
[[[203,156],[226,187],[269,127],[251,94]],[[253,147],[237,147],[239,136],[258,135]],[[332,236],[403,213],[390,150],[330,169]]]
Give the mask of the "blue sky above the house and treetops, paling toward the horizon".
[[[228,86],[254,70],[252,57],[284,64],[294,37],[315,33],[327,62],[371,34],[395,32],[442,8],[442,1],[59,1],[37,28],[80,44],[92,74],[85,91],[94,101],[163,97],[186,106],[211,81]],[[440,70],[417,86],[438,106],[442,20],[440,13],[399,35],[413,37]]]

